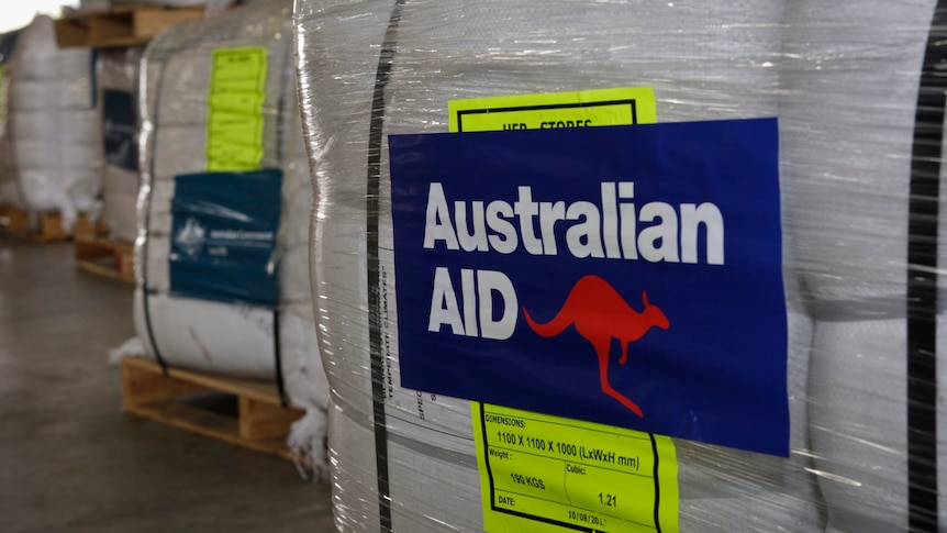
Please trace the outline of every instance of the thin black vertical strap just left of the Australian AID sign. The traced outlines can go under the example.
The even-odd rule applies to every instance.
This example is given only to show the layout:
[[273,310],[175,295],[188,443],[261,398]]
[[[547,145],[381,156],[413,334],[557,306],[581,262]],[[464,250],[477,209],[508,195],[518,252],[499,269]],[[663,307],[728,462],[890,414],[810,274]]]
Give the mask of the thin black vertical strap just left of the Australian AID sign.
[[378,515],[382,532],[391,530],[391,496],[388,479],[388,426],[385,413],[385,353],[381,345],[381,290],[378,249],[379,195],[381,190],[381,142],[385,127],[385,89],[391,79],[395,36],[404,0],[395,0],[385,32],[375,92],[371,97],[371,119],[368,130],[368,179],[366,184],[368,252],[368,345],[371,363],[371,403],[375,421],[375,456],[378,471]]

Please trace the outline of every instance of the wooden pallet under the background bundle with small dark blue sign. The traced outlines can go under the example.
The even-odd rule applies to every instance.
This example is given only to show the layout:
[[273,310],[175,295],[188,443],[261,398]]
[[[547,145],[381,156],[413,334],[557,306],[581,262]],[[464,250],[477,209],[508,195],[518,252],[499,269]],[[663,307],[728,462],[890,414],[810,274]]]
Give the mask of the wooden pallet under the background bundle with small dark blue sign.
[[131,285],[135,285],[134,249],[132,243],[109,238],[104,225],[86,221],[80,221],[73,240],[78,268]]

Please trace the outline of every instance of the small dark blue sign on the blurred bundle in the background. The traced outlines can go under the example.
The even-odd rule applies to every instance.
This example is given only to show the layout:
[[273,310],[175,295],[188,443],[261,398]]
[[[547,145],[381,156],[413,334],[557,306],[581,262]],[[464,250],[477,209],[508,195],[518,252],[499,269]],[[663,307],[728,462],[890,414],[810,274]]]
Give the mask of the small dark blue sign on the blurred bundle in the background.
[[135,99],[131,92],[102,90],[102,136],[109,165],[138,169],[136,116]]

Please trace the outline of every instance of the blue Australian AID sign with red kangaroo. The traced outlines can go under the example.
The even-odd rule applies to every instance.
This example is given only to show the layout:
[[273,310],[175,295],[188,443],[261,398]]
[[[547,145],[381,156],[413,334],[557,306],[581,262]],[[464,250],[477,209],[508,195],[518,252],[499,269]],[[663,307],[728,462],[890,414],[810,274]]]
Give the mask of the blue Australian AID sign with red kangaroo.
[[389,146],[402,386],[788,455],[775,119]]

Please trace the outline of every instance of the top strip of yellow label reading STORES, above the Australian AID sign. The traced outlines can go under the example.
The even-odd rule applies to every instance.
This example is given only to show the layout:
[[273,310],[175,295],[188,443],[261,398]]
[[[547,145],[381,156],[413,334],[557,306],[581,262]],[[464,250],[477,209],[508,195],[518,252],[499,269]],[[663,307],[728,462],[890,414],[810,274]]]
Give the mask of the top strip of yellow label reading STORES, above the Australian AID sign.
[[452,132],[589,127],[657,122],[650,87],[454,100]]

